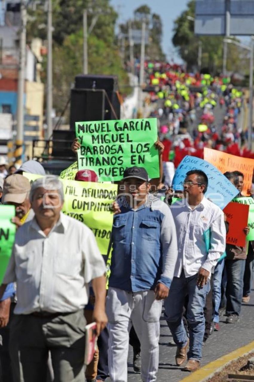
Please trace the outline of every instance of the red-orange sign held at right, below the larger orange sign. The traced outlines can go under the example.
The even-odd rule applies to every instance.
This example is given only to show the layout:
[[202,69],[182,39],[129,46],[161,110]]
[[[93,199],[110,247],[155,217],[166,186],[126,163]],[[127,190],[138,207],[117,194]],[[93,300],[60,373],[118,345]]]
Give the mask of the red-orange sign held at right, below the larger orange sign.
[[230,202],[223,212],[229,224],[226,243],[244,247],[246,235],[243,230],[248,227],[249,206]]

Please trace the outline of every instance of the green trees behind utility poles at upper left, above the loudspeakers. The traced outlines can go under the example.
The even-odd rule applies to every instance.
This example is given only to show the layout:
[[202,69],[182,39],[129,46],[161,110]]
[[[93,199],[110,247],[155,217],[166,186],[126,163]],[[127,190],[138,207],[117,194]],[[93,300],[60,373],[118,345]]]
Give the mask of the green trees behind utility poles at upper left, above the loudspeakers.
[[[88,9],[88,73],[117,75],[128,84],[118,47],[115,44],[117,13],[110,0],[52,0],[53,7],[53,106],[61,112],[69,99],[75,76],[83,72],[83,10]],[[46,40],[47,13],[42,7],[29,10],[27,42],[34,37]],[[46,82],[46,57],[42,80]],[[120,89],[121,90],[121,89]]]

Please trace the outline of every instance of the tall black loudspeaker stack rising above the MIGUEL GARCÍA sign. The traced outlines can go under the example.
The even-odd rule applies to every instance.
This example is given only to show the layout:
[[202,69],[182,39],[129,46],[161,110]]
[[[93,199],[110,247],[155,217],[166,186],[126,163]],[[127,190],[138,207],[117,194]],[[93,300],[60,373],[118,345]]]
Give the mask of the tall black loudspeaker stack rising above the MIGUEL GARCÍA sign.
[[70,129],[75,122],[120,119],[117,77],[80,75],[71,90]]

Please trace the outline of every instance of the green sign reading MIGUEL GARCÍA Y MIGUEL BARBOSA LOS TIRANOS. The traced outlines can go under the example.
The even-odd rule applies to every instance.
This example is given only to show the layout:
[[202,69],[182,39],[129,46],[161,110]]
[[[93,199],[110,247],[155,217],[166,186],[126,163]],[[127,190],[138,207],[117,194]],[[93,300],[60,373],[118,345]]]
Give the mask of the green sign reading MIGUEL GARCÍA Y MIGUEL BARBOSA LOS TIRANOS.
[[159,177],[157,119],[76,122],[78,169],[93,170],[100,181],[123,178],[126,167],[144,167]]

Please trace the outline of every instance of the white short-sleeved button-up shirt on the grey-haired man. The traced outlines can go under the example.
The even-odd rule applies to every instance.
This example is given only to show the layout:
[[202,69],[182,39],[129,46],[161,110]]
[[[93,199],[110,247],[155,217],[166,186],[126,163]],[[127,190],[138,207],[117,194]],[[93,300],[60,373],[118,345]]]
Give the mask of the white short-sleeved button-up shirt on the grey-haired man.
[[48,236],[35,217],[17,230],[3,283],[17,283],[15,314],[74,312],[88,303],[88,283],[105,271],[93,232],[61,212]]

